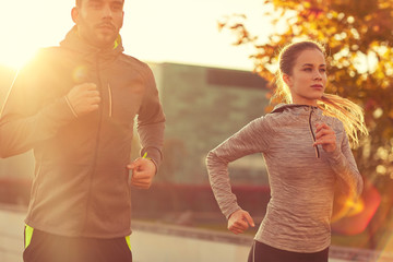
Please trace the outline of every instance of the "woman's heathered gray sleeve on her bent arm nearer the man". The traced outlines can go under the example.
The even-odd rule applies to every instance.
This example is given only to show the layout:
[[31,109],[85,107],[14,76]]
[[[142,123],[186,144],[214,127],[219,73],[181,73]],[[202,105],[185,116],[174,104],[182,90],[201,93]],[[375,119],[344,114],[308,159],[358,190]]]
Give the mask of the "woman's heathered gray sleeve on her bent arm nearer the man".
[[236,195],[231,192],[228,165],[246,155],[266,152],[269,132],[264,118],[255,119],[207,154],[210,183],[218,206],[227,219],[230,214],[240,210]]

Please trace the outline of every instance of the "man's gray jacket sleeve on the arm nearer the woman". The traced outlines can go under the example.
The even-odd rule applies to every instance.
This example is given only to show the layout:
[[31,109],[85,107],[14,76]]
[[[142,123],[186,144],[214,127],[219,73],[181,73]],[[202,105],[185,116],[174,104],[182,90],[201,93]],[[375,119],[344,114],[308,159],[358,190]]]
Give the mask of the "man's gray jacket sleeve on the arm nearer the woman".
[[138,134],[142,145],[141,155],[154,162],[157,169],[163,160],[165,115],[151,69],[145,70],[145,93],[138,112]]

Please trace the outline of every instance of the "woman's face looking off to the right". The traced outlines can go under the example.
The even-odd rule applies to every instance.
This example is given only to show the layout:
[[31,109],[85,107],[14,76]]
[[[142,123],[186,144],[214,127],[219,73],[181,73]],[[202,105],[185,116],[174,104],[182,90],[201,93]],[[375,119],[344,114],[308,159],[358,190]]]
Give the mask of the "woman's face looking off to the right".
[[284,74],[284,82],[288,85],[293,103],[317,106],[326,85],[326,62],[323,53],[318,49],[300,52],[296,59],[291,75]]

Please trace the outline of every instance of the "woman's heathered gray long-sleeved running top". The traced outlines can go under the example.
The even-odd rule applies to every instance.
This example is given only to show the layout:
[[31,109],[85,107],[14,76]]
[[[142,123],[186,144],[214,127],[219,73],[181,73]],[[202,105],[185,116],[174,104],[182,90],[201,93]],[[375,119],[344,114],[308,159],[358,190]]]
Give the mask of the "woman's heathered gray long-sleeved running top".
[[[337,148],[319,146],[317,158],[309,126],[325,122],[336,133]],[[231,192],[228,164],[262,153],[267,166],[271,200],[255,240],[277,249],[318,252],[330,246],[330,221],[337,182],[359,195],[362,178],[349,148],[343,123],[311,106],[278,105],[211,151],[206,158],[210,182],[223,214],[239,210]]]

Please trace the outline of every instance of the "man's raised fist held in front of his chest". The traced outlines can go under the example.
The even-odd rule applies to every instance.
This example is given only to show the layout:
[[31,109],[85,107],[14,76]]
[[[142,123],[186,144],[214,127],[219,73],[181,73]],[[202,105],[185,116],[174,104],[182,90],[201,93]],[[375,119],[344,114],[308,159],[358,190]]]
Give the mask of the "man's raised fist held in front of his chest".
[[75,85],[66,97],[78,117],[97,110],[100,103],[97,85],[93,83]]

